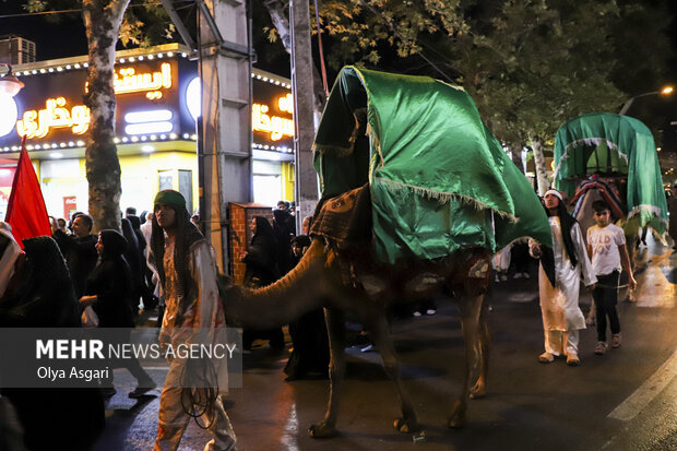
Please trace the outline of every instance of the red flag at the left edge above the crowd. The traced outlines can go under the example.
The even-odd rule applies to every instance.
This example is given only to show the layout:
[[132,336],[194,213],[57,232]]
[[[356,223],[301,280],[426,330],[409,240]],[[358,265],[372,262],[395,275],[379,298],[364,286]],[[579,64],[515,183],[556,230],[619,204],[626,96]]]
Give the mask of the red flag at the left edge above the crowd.
[[14,239],[22,249],[24,247],[22,239],[43,235],[51,236],[45,199],[43,199],[40,183],[37,181],[25,144],[26,137],[21,142],[21,155],[4,216],[4,222],[12,226]]

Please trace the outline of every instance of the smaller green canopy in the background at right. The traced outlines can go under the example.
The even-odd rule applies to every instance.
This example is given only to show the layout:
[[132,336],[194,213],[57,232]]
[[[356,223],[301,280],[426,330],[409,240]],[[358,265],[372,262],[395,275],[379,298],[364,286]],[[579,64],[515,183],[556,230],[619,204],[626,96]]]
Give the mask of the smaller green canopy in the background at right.
[[641,121],[593,112],[565,123],[555,140],[555,187],[573,195],[591,174],[627,177],[628,219],[663,234],[667,203],[653,135]]

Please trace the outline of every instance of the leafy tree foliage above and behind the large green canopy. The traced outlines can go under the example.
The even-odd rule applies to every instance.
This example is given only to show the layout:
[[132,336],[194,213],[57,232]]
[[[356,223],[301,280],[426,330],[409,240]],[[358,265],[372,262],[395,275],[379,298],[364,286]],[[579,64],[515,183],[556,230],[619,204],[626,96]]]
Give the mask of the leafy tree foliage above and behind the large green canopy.
[[334,69],[349,62],[462,84],[513,159],[532,145],[544,191],[542,146],[557,128],[584,112],[616,110],[623,91],[662,73],[665,8],[665,0],[346,0],[323,1],[320,20]]

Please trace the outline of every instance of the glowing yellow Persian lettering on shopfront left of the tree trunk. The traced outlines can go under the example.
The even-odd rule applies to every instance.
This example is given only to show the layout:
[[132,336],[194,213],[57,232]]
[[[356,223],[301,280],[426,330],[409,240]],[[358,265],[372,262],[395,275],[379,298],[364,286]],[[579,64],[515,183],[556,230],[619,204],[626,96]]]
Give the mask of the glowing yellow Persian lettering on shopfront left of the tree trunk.
[[20,137],[44,138],[52,129],[70,128],[75,134],[82,134],[90,128],[90,108],[75,105],[70,111],[66,107],[66,98],[48,98],[45,109],[36,111],[29,109],[24,112],[23,119],[16,122],[16,133]]

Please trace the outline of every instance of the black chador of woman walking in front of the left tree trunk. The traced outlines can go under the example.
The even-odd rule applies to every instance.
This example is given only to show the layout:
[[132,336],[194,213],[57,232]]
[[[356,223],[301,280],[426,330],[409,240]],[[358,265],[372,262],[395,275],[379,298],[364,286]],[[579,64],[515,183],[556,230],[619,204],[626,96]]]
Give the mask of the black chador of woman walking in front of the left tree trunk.
[[92,305],[98,316],[99,328],[131,328],[132,275],[122,253],[127,240],[116,230],[100,233],[104,252],[87,277],[86,295],[96,295]]

